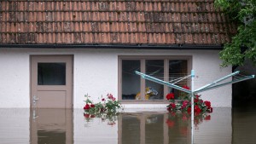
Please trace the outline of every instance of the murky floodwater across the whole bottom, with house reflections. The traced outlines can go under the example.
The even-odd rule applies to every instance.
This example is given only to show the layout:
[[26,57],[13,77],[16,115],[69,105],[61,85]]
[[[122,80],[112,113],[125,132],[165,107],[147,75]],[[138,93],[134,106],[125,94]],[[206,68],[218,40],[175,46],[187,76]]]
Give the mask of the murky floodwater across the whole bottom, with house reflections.
[[255,144],[256,109],[214,108],[188,113],[131,110],[91,116],[83,109],[0,109],[0,143],[32,144]]

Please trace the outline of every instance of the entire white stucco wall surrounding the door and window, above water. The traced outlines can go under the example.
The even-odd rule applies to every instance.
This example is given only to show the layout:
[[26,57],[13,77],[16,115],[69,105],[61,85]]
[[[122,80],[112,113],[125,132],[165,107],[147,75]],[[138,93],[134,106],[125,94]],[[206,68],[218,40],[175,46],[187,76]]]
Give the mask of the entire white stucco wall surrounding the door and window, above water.
[[[0,49],[0,107],[30,107],[30,55],[74,55],[73,107],[84,106],[84,95],[118,95],[119,55],[192,55],[195,89],[231,72],[220,68],[218,51],[143,49]],[[231,85],[202,93],[212,107],[231,107]],[[133,107],[134,105],[125,105]],[[137,105],[153,108],[165,105]]]

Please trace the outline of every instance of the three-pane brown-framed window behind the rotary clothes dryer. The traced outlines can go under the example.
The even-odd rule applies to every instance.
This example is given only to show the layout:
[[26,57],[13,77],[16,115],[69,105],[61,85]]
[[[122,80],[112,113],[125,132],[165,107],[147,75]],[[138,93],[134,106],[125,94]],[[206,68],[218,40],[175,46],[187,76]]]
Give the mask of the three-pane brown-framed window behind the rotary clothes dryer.
[[[119,56],[119,100],[166,101],[165,95],[170,92],[179,95],[179,90],[143,79],[135,72],[172,81],[189,73],[190,59],[190,56]],[[177,83],[186,84],[187,81]]]

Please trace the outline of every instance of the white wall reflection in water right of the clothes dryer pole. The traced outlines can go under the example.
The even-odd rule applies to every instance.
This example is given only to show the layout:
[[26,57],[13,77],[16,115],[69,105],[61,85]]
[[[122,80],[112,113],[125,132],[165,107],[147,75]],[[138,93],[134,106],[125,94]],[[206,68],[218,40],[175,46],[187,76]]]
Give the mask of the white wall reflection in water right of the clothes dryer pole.
[[232,143],[232,110],[230,107],[213,108],[210,117],[195,125],[195,143]]

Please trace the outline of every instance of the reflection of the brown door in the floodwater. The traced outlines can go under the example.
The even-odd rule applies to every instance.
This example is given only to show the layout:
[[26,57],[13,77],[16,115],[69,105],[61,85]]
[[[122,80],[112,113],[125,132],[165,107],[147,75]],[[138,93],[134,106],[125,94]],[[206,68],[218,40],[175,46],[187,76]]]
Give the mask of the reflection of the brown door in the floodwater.
[[73,143],[71,109],[32,109],[31,143]]

